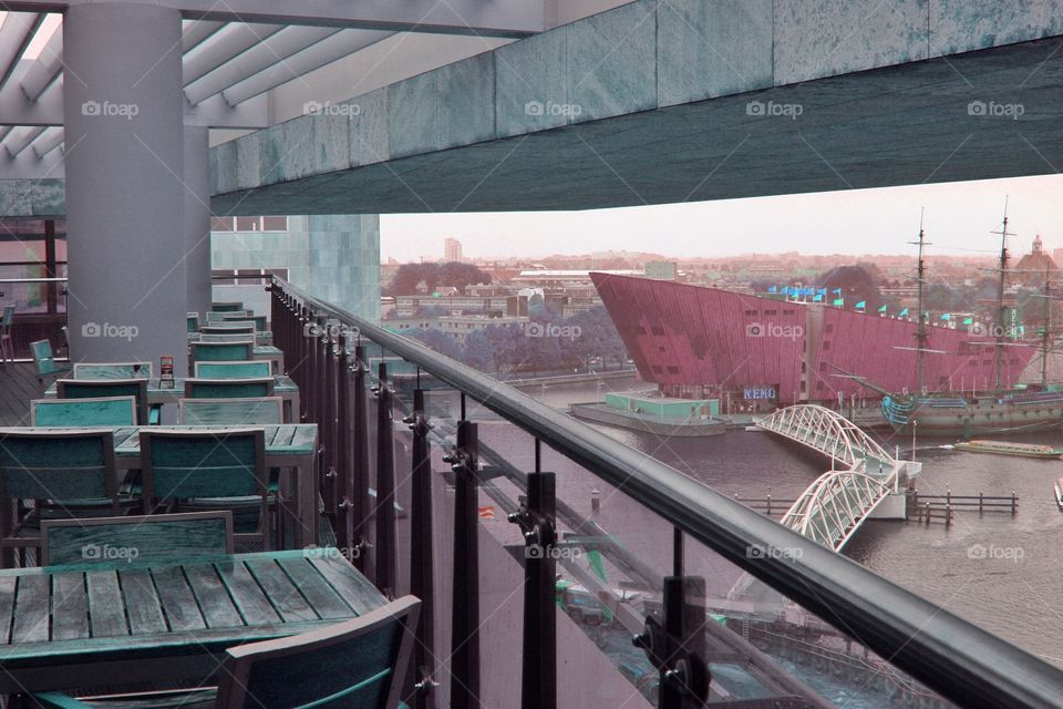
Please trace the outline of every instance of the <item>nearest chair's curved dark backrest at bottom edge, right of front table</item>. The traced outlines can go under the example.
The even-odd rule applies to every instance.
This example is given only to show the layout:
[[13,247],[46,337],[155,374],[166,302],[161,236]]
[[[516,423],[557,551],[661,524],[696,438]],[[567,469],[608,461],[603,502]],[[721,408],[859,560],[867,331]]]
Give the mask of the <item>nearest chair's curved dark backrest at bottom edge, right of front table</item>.
[[353,620],[229,648],[216,707],[399,706],[421,602],[405,596]]

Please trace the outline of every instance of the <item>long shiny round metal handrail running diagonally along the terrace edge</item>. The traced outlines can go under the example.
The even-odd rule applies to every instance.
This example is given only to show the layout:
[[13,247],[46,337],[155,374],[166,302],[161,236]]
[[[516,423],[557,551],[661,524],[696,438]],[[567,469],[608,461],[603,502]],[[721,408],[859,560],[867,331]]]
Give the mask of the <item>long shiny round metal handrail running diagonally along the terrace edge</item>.
[[[1057,707],[1063,670],[727,495],[492,379],[337,308],[282,278],[317,316],[416,363],[536,436],[729,562],[962,706]],[[751,555],[751,547],[789,554]],[[797,552],[799,553],[793,553]]]

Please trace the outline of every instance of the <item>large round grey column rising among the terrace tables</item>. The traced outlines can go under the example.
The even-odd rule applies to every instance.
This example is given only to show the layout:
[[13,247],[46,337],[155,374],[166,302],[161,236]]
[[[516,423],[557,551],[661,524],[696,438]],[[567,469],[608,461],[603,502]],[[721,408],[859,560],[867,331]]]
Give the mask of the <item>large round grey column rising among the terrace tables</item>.
[[70,351],[187,371],[180,14],[72,3],[63,21]]

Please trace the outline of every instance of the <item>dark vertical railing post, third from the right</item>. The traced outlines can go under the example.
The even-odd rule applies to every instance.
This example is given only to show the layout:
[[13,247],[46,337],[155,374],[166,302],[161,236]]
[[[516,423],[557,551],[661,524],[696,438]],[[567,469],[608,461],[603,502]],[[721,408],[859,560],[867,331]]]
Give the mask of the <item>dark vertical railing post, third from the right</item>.
[[454,482],[454,588],[451,621],[451,707],[479,703],[478,450],[476,424],[457,423],[457,446],[443,460]]

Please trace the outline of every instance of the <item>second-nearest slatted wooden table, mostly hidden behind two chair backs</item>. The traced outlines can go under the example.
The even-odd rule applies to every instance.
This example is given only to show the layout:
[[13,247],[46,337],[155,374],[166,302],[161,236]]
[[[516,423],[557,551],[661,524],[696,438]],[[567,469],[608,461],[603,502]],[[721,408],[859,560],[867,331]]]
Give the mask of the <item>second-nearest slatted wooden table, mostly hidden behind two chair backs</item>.
[[[111,428],[114,431],[114,458],[118,470],[135,470],[141,464],[141,428],[148,427],[89,427],[91,430]],[[266,467],[295,470],[295,481],[289,485],[295,491],[297,546],[318,543],[318,424],[282,423],[280,425],[153,425],[151,431],[225,431],[230,429],[261,428],[266,431]],[[54,431],[71,433],[76,428],[2,428],[10,431]],[[0,513],[8,516],[7,507]],[[10,521],[0,520],[4,530]]]

